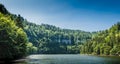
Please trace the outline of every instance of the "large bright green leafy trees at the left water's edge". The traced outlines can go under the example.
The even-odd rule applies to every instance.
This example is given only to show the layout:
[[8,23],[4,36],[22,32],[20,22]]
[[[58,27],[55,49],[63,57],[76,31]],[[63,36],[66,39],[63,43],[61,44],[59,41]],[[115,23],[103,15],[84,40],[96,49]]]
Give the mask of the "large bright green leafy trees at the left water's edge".
[[15,59],[26,55],[27,36],[9,15],[0,13],[0,59]]

